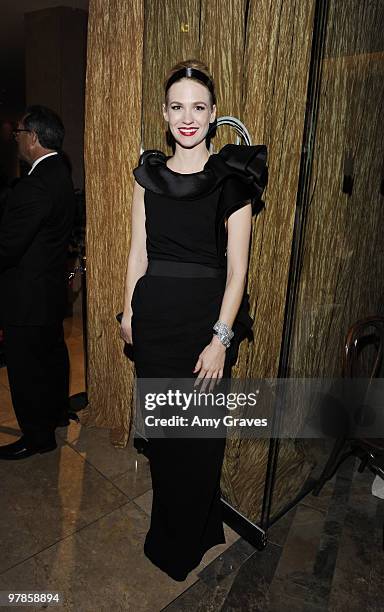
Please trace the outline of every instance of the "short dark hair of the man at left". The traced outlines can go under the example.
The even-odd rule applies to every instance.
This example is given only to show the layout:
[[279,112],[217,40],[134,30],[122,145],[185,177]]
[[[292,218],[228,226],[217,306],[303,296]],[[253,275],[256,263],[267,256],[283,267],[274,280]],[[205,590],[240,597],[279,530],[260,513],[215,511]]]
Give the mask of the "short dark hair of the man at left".
[[36,132],[39,143],[45,149],[62,148],[65,134],[63,122],[50,108],[37,104],[28,106],[23,123],[27,130]]

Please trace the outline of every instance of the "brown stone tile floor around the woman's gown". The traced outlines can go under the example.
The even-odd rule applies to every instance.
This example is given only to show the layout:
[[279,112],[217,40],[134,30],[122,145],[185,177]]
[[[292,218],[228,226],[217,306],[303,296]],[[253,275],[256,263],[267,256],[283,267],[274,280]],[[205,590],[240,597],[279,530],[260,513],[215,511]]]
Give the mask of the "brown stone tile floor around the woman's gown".
[[[65,329],[76,393],[84,390],[80,318]],[[111,446],[105,429],[71,421],[57,434],[54,452],[0,462],[0,592],[59,592],[55,609],[74,612],[384,610],[384,500],[353,460],[270,528],[264,551],[225,526],[226,544],[178,583],[143,553],[146,458],[131,442]],[[0,368],[0,444],[18,437]]]

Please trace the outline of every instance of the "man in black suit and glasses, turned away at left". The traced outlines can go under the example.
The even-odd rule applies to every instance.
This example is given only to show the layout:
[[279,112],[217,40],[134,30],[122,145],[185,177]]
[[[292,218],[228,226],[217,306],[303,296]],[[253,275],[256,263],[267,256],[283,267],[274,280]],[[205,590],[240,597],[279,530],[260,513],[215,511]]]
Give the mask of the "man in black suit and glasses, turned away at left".
[[12,190],[0,222],[0,324],[22,437],[1,446],[0,459],[54,450],[69,395],[63,319],[75,194],[61,154],[64,127],[50,109],[31,106],[15,138],[31,169]]

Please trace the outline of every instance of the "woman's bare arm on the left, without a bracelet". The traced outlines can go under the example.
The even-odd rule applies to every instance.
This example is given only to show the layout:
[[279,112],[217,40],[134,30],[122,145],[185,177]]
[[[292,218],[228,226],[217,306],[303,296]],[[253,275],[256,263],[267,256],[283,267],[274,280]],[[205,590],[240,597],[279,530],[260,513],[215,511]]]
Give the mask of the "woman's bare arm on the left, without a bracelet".
[[132,344],[132,294],[138,279],[145,274],[148,267],[144,192],[145,189],[135,181],[131,211],[131,245],[125,279],[124,310],[120,331],[121,337],[129,344]]

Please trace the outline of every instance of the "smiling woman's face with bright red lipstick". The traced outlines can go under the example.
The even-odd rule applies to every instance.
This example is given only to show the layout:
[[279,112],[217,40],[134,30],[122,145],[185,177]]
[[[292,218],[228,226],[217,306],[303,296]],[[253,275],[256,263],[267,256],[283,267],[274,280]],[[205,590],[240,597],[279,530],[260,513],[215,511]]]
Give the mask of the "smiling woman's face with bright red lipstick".
[[216,117],[216,106],[211,107],[205,85],[185,78],[169,88],[163,115],[176,142],[189,149],[205,139],[209,124]]

